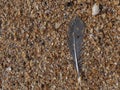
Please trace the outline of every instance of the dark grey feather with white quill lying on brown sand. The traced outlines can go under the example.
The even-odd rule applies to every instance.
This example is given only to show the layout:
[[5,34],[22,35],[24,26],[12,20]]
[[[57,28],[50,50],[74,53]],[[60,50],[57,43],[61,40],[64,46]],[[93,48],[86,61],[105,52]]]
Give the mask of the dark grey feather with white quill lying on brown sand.
[[80,72],[82,68],[82,59],[80,58],[80,54],[82,49],[84,28],[84,22],[78,16],[76,16],[70,22],[68,30],[68,46],[70,49],[70,53],[74,59],[78,78],[80,77]]

